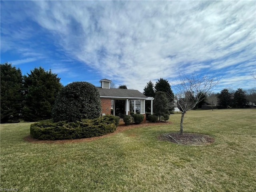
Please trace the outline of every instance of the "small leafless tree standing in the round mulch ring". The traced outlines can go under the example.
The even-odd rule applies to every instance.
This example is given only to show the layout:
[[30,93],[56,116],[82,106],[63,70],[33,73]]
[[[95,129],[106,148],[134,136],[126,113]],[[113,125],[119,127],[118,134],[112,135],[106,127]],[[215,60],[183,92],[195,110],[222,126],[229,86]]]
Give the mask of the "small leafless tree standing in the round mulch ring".
[[207,73],[205,75],[192,74],[187,76],[180,72],[179,80],[172,86],[176,94],[178,107],[182,115],[180,119],[180,135],[183,134],[183,120],[186,111],[193,109],[198,102],[204,99],[209,90],[212,90],[219,82],[217,74]]

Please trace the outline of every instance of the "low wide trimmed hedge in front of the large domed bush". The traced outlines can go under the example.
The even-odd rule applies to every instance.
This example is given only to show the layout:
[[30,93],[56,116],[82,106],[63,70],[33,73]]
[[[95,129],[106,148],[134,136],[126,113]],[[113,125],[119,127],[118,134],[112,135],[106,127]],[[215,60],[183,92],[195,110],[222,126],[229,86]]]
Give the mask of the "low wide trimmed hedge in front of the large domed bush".
[[38,122],[31,124],[32,138],[40,140],[63,140],[102,136],[116,130],[119,117],[106,115],[96,119],[76,122]]

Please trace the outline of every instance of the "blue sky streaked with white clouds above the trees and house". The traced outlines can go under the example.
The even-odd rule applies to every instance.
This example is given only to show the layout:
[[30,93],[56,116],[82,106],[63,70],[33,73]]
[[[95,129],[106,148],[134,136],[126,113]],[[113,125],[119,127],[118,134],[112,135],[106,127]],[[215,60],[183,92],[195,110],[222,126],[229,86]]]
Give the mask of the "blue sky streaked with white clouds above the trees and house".
[[66,85],[110,79],[143,92],[179,72],[256,87],[256,2],[1,1],[1,63],[42,66]]

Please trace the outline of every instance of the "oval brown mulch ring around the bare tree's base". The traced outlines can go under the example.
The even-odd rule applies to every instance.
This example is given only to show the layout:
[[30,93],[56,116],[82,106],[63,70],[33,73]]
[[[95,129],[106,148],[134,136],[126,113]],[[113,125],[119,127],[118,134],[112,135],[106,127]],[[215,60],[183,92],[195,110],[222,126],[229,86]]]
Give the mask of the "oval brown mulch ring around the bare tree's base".
[[183,133],[183,135],[180,135],[177,132],[171,132],[162,134],[158,138],[162,141],[169,141],[183,145],[207,145],[214,142],[214,138],[208,135],[196,133]]

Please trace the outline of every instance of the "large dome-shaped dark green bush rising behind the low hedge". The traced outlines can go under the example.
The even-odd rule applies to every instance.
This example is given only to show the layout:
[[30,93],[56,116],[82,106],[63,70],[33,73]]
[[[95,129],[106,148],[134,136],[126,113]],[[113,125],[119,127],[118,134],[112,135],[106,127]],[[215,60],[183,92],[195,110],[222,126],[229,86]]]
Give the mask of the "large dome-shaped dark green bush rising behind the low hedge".
[[98,89],[88,82],[72,82],[64,86],[52,109],[54,122],[94,119],[100,114],[100,94]]

